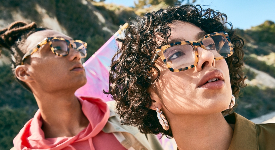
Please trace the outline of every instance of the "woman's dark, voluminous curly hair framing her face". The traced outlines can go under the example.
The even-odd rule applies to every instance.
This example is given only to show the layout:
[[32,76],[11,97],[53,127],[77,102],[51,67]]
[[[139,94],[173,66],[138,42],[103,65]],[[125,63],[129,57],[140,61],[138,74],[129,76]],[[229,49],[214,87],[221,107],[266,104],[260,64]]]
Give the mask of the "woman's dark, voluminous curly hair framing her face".
[[[151,64],[155,50],[168,43],[171,34],[168,24],[175,20],[191,22],[207,33],[227,32],[234,47],[234,54],[225,58],[232,94],[238,97],[240,87],[245,86],[243,40],[236,35],[231,23],[226,22],[225,14],[210,8],[203,9],[200,5],[177,5],[146,13],[136,26],[126,29],[125,39],[117,39],[122,46],[112,59],[109,92],[105,92],[116,100],[122,124],[138,126],[141,133],[161,133],[173,137],[171,129],[165,131],[159,124],[156,111],[150,109],[152,99],[147,90],[159,79],[159,69]],[[157,44],[155,35],[161,36],[164,41]],[[158,74],[155,78],[152,69]]]

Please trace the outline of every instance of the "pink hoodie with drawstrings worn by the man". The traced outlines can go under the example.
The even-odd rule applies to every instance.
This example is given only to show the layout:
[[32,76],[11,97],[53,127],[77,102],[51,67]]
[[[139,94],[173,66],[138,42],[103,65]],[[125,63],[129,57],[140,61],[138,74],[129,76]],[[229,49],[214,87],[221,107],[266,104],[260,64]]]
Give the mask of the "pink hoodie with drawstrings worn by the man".
[[17,150],[125,150],[112,133],[101,131],[110,116],[107,104],[98,98],[81,97],[78,99],[84,115],[90,122],[87,128],[74,137],[45,139],[41,129],[41,113],[38,110],[34,118],[29,120],[14,138],[14,147]]

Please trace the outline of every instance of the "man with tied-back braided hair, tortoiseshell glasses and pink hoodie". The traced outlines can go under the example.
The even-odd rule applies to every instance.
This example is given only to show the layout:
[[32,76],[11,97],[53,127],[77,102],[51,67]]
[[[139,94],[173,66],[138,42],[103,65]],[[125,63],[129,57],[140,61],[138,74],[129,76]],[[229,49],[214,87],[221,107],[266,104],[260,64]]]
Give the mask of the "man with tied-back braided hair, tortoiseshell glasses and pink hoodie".
[[74,95],[87,81],[85,42],[17,21],[0,30],[0,47],[10,50],[16,79],[39,107],[14,138],[13,150],[162,149],[154,135],[120,125],[114,102]]

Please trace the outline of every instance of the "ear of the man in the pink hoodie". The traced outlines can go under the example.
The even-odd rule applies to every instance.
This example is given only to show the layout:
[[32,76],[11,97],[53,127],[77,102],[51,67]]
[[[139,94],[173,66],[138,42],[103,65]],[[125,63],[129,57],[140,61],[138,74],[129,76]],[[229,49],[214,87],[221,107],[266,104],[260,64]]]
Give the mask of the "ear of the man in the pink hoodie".
[[15,67],[15,76],[23,82],[33,81],[29,73],[29,68],[26,65],[19,65]]

